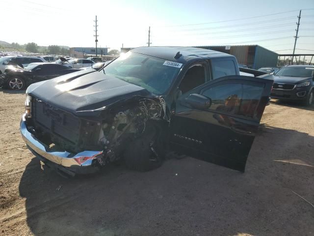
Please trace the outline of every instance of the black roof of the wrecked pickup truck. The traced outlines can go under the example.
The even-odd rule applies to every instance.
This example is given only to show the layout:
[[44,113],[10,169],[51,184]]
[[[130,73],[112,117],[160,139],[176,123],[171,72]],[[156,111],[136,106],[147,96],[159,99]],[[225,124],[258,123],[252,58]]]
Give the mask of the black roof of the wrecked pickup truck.
[[[184,63],[190,59],[198,58],[210,59],[219,57],[234,57],[226,53],[194,47],[139,47],[132,49],[131,52],[149,55],[166,60],[178,61],[181,63]],[[182,56],[178,59],[175,59],[174,57],[178,52],[180,52]]]

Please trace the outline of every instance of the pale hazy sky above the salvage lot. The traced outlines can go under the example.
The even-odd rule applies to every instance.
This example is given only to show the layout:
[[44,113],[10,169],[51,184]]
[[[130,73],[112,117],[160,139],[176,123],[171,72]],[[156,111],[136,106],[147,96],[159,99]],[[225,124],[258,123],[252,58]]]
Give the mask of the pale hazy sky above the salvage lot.
[[[0,0],[0,40],[40,46],[119,49],[147,46],[259,44],[314,54],[314,0]],[[3,23],[3,22],[2,22]]]

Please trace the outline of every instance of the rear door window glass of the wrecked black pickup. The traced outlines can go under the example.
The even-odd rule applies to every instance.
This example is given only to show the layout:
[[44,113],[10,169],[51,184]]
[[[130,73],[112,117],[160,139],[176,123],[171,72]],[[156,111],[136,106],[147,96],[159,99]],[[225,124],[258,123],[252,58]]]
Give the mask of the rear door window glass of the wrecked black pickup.
[[212,60],[211,67],[213,79],[227,75],[236,75],[235,63],[233,60]]

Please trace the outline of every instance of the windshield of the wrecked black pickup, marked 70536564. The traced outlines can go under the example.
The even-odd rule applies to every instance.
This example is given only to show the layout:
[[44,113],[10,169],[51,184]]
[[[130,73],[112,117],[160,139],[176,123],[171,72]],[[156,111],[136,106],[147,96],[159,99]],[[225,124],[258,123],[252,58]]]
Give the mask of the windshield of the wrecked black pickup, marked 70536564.
[[180,71],[178,67],[165,65],[165,61],[128,52],[105,66],[103,71],[107,75],[141,86],[150,92],[163,94]]

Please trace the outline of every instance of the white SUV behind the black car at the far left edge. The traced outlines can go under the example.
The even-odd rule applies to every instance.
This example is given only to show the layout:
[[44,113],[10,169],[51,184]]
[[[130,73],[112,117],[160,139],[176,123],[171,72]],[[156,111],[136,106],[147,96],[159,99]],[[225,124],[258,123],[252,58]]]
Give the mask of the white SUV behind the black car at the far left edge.
[[12,62],[13,64],[18,64],[21,67],[27,66],[32,62],[47,62],[45,59],[39,57],[23,57],[23,56],[7,56],[0,59],[0,74],[5,70],[5,67]]

